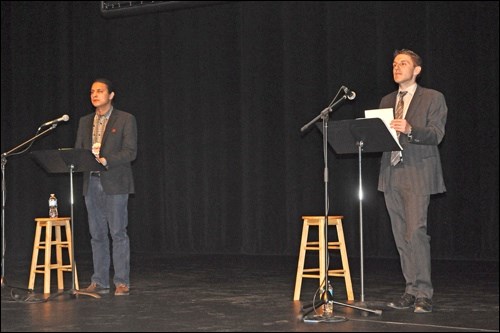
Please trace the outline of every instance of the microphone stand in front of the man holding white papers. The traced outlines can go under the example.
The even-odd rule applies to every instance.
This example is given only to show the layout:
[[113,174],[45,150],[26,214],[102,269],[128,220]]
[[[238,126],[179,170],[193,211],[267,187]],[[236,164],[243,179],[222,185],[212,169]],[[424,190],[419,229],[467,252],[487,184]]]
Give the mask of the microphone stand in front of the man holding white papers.
[[[340,88],[342,90],[342,87]],[[339,90],[340,91],[340,90]],[[329,267],[329,252],[328,252],[328,210],[329,210],[329,200],[328,200],[328,119],[329,119],[329,114],[330,112],[332,112],[332,110],[337,106],[339,105],[342,101],[346,100],[347,99],[347,96],[344,95],[342,96],[339,100],[337,100],[336,102],[334,102],[336,99],[336,97],[333,99],[333,101],[330,103],[330,105],[324,109],[323,111],[321,111],[313,120],[311,120],[309,123],[307,123],[306,125],[304,125],[302,128],[301,128],[301,131],[305,131],[307,128],[309,128],[309,126],[311,126],[312,124],[314,124],[318,119],[323,119],[323,159],[324,159],[324,173],[323,173],[323,178],[324,178],[324,183],[325,183],[325,217],[324,217],[324,233],[325,233],[325,241],[324,241],[324,244],[325,244],[325,257],[324,258],[320,258],[320,260],[324,260],[324,267],[325,267],[325,270],[324,270],[324,278],[323,278],[323,282],[320,283],[320,287],[322,286],[322,291],[321,291],[321,304],[324,305],[324,308],[323,308],[323,316],[319,316],[319,318],[317,318],[317,316],[315,316],[315,318],[313,319],[314,322],[318,322],[318,321],[321,321],[321,322],[339,322],[339,321],[345,321],[346,318],[345,317],[338,317],[338,316],[333,316],[333,313],[328,313],[327,314],[327,303],[328,302],[333,302],[333,297],[331,296],[331,294],[328,292],[328,285],[329,285],[329,281],[328,281],[328,267]],[[320,305],[321,305],[320,304]],[[313,309],[315,309],[315,307],[313,306]],[[312,311],[312,310],[311,310]],[[309,312],[311,312],[309,311]],[[305,318],[304,318],[305,319]],[[307,321],[311,322],[311,320],[307,319]]]

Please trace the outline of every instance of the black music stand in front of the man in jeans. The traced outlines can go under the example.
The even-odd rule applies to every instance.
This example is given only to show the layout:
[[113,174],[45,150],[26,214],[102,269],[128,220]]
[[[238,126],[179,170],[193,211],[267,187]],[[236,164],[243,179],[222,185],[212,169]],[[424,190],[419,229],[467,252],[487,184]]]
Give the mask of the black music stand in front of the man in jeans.
[[74,242],[74,217],[73,217],[73,173],[84,171],[104,171],[106,168],[100,164],[94,154],[87,149],[60,148],[54,150],[38,150],[31,152],[35,161],[48,173],[69,172],[71,195],[71,295],[87,295],[101,298],[100,295],[76,290],[75,286],[75,242]]

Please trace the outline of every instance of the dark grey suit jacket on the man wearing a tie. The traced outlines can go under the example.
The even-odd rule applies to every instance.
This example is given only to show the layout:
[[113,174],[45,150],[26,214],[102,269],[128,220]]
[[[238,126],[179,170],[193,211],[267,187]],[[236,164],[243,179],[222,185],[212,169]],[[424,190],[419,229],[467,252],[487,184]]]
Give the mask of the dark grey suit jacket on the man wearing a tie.
[[[382,98],[380,108],[394,108],[397,91]],[[448,108],[442,93],[417,86],[405,119],[412,126],[412,138],[402,134],[399,142],[403,147],[402,184],[415,194],[435,194],[446,191],[438,145],[444,137]],[[378,190],[384,192],[391,175],[391,152],[382,154]]]

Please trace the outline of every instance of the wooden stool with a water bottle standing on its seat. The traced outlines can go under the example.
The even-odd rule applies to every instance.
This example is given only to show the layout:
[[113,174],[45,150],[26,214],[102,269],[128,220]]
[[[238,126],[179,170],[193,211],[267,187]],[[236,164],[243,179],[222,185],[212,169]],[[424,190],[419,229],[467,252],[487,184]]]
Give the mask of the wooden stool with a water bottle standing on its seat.
[[[33,257],[31,259],[30,280],[28,289],[33,290],[35,287],[36,273],[44,274],[43,293],[50,294],[50,273],[52,269],[57,269],[57,289],[64,289],[63,272],[72,271],[72,243],[71,243],[71,218],[69,217],[54,217],[36,218],[35,241],[33,245]],[[52,239],[52,227],[55,228],[55,239]],[[66,240],[61,238],[61,227],[66,229]],[[45,228],[45,241],[42,241],[42,228]],[[56,263],[52,263],[52,246],[56,247]],[[69,264],[63,264],[62,249],[68,250]],[[42,264],[38,264],[38,252],[45,250],[45,259]],[[73,286],[72,286],[73,287]],[[75,266],[75,287],[78,290],[78,278],[76,275]]]

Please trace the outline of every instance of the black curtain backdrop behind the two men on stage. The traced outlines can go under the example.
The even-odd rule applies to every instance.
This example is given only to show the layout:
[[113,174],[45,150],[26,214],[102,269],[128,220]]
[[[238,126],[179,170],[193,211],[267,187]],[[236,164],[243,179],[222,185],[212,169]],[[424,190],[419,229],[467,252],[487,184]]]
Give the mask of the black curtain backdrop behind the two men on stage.
[[[345,85],[354,119],[395,90],[392,54],[424,60],[420,84],[446,96],[441,154],[447,193],[433,198],[435,259],[498,261],[498,2],[231,2],[105,17],[99,1],[2,1],[1,150],[44,122],[70,120],[29,151],[72,147],[97,77],[136,115],[133,255],[296,255],[301,215],[324,215],[321,132],[302,126]],[[380,154],[363,156],[366,257],[397,257]],[[360,255],[358,157],[329,148],[330,213]],[[4,166],[7,263],[30,260],[34,218],[50,193],[70,215],[68,174],[29,153]],[[74,177],[75,253],[90,253],[81,174]]]

